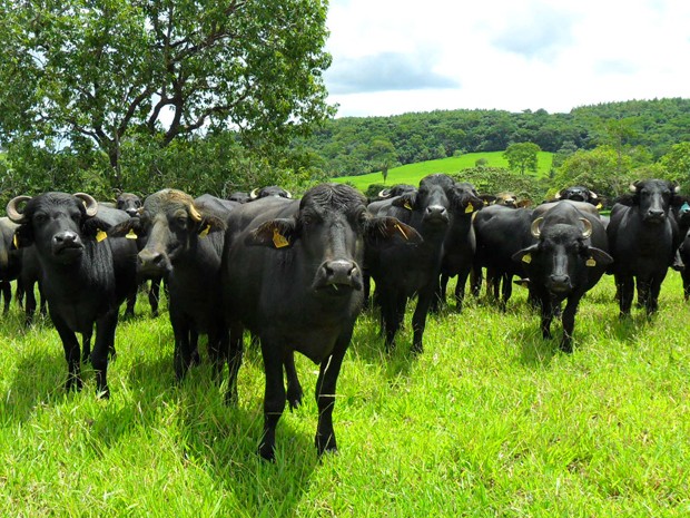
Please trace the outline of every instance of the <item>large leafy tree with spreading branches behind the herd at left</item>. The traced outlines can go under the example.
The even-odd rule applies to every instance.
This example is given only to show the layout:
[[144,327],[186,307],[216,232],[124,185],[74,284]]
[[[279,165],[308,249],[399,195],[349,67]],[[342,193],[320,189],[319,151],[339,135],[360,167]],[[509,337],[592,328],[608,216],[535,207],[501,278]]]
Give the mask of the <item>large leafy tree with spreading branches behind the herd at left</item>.
[[333,114],[325,1],[0,0],[0,140],[90,144],[121,187],[139,138],[269,150]]

